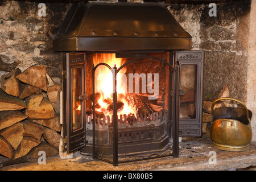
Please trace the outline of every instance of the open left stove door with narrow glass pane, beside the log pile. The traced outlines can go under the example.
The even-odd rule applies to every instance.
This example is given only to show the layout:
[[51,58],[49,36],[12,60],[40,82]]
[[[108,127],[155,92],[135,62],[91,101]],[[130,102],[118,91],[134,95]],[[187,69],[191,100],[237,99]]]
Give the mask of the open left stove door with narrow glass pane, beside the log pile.
[[66,53],[67,152],[85,146],[85,53]]

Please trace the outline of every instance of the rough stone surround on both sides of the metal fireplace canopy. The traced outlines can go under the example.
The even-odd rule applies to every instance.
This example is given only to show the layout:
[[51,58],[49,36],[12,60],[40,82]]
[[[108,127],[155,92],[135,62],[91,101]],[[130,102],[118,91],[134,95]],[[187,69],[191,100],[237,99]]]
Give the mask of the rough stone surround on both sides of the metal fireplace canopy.
[[[47,14],[40,17],[38,3],[1,2],[0,56],[6,63],[20,60],[21,71],[35,64],[46,65],[53,81],[60,84],[61,58],[59,53],[52,52],[52,40],[69,4],[46,3]],[[169,10],[177,22],[192,35],[192,49],[205,51],[204,94],[215,93],[228,84],[230,97],[245,102],[253,111],[251,126],[253,141],[256,140],[256,1],[216,2],[216,17],[208,15],[209,3],[205,1],[178,3],[170,0],[166,3],[170,3]],[[0,76],[6,73],[1,71]]]

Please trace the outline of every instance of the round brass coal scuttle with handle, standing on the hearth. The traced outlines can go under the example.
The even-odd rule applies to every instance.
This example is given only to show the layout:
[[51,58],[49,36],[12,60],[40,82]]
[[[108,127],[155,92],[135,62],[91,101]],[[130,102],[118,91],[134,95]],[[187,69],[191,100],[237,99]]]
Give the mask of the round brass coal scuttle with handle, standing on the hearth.
[[[218,104],[220,101],[222,104]],[[252,114],[245,104],[234,98],[219,98],[212,103],[212,115],[210,137],[214,148],[225,151],[246,151],[250,148]]]

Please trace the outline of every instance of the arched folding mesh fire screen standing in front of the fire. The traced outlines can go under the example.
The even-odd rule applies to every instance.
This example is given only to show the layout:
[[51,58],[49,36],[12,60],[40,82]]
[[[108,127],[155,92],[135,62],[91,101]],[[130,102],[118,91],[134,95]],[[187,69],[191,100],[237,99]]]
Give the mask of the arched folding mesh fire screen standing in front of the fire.
[[[178,72],[179,65],[173,66],[164,59],[146,56],[119,63],[117,68],[118,59],[114,57],[114,60],[112,67],[104,60],[93,67],[92,123],[93,157],[117,165],[145,159],[138,152],[154,152],[170,147],[169,130],[172,123],[168,117],[172,116],[172,112],[168,111],[169,89],[166,88],[166,81],[169,78],[165,73],[167,70]],[[139,68],[140,64],[142,68]],[[96,77],[100,67],[108,68],[109,72],[97,73]],[[146,67],[154,69],[150,68],[150,73],[143,73]],[[137,72],[139,69],[141,72]],[[159,72],[161,69],[164,71]],[[177,99],[177,92],[175,94]],[[177,109],[177,104],[174,108]],[[174,115],[174,119],[176,117]],[[131,153],[137,155],[131,156]],[[170,155],[173,152],[162,156]],[[148,158],[155,156],[146,156]]]

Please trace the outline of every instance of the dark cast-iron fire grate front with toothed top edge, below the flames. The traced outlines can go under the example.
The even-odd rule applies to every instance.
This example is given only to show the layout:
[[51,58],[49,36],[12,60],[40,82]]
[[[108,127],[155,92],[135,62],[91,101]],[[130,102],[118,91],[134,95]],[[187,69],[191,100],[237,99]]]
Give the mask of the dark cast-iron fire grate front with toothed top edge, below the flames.
[[[122,147],[119,148],[119,154],[162,150],[162,148],[169,143],[168,135],[164,133],[164,125],[166,125],[164,121],[165,116],[166,111],[152,113],[149,116],[137,114],[137,117],[135,117],[135,115],[132,114],[128,116],[123,115],[122,117],[122,115],[119,115],[118,144],[122,145]],[[92,146],[93,139],[90,137],[93,133],[92,115],[86,115],[86,118],[86,134],[88,134],[86,137],[86,140],[88,140],[87,146]],[[98,146],[100,145],[104,148],[102,151],[105,152],[105,155],[111,154],[111,151],[105,149],[111,148],[113,144],[113,125],[110,123],[109,115],[107,117],[104,115],[102,118],[96,119],[95,130],[98,136],[96,137],[96,143]],[[148,147],[148,145],[150,147]]]

